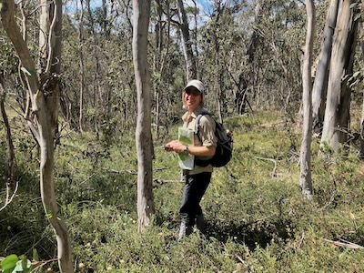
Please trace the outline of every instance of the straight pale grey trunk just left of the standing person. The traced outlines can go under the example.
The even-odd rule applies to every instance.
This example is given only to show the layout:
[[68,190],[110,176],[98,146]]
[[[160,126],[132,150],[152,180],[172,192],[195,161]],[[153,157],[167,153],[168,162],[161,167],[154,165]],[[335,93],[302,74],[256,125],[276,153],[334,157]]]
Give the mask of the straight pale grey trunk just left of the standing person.
[[138,230],[151,224],[155,213],[152,185],[152,135],[147,35],[150,1],[133,0],[133,62],[136,77],[137,217]]

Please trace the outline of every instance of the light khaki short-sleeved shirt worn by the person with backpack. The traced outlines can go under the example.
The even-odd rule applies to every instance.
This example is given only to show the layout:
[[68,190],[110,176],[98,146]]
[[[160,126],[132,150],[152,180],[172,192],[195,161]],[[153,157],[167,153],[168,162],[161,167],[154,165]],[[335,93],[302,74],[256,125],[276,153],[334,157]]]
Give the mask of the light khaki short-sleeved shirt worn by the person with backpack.
[[[201,106],[197,107],[197,109],[189,115],[189,113],[185,113],[185,115],[182,116],[183,120],[183,126],[187,129],[190,129],[192,131],[196,131],[196,122],[197,122],[197,116],[202,113],[207,113],[207,110]],[[209,116],[201,116],[199,121],[199,137],[201,138],[201,141],[199,140],[197,136],[197,132],[195,132],[194,136],[194,145],[197,147],[217,147],[217,136],[215,136],[215,121],[214,119]],[[198,157],[200,159],[208,159],[210,157]],[[190,175],[196,175],[203,172],[212,172],[213,167],[211,165],[208,165],[207,167],[200,167],[195,165],[195,167],[189,171]]]

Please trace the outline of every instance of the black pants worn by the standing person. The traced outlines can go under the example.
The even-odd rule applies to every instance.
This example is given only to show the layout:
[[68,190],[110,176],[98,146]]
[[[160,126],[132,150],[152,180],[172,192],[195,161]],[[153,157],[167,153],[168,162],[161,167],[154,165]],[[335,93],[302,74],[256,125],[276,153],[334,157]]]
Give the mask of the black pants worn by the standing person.
[[211,173],[205,172],[197,175],[187,175],[183,191],[182,205],[179,209],[181,220],[187,226],[194,226],[196,217],[202,214],[199,206],[207,186],[211,181]]

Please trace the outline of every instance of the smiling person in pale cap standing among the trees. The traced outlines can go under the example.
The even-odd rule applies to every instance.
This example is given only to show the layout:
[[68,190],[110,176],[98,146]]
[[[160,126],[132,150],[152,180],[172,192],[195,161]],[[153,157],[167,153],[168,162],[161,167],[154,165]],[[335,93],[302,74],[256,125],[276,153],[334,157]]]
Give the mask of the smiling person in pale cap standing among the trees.
[[[182,116],[183,126],[192,131],[196,131],[197,116],[207,113],[203,107],[204,85],[199,80],[191,80],[185,87],[182,100],[184,108],[187,109]],[[201,116],[198,136],[194,136],[194,145],[185,146],[178,140],[173,140],[165,146],[167,151],[176,153],[187,153],[195,156],[196,159],[207,160],[214,156],[217,147],[217,136],[215,136],[215,121],[209,115]],[[201,198],[206,192],[207,186],[211,181],[213,167],[209,164],[195,166],[192,170],[183,170],[186,176],[182,204],[179,210],[181,225],[179,228],[178,239],[193,232],[195,224],[203,232],[204,218],[202,208],[199,205]]]

